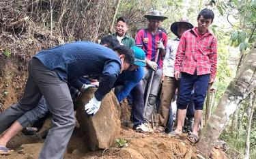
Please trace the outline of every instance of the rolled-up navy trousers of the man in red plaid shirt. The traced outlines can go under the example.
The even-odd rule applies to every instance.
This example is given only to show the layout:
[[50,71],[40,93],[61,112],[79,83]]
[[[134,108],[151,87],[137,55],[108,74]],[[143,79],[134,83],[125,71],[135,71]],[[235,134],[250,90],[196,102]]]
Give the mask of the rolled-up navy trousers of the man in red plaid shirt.
[[180,79],[180,93],[177,100],[177,109],[187,109],[192,96],[191,91],[195,86],[195,95],[193,102],[195,110],[203,110],[203,102],[208,89],[210,74],[197,75],[182,72]]

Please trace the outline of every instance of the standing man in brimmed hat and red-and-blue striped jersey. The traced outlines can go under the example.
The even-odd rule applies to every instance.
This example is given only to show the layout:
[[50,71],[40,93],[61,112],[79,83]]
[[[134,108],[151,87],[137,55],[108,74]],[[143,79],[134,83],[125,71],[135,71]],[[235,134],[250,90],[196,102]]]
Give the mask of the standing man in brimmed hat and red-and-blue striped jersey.
[[[150,122],[160,87],[162,58],[165,57],[165,48],[167,46],[167,34],[162,32],[159,27],[162,20],[167,19],[167,17],[157,10],[150,12],[150,14],[144,17],[147,18],[148,26],[146,29],[138,31],[135,43],[145,51],[146,55],[147,67],[144,68],[144,76],[141,81],[144,90],[147,86],[147,81],[150,81],[152,72],[155,71],[151,89],[147,90],[150,91],[150,96],[144,112],[145,120]],[[157,53],[159,53],[158,56]]]

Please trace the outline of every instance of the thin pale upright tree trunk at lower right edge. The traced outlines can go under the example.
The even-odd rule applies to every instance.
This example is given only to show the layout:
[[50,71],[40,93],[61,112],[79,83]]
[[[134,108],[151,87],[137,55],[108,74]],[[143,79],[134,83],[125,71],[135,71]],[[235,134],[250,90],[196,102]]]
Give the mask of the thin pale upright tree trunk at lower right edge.
[[[255,89],[256,90],[256,89]],[[253,99],[254,98],[254,99]],[[253,100],[253,101],[252,101]],[[250,102],[249,102],[249,117],[248,117],[248,123],[247,123],[247,130],[246,130],[246,141],[245,141],[245,155],[244,159],[249,159],[250,156],[250,132],[251,132],[251,121],[253,119],[253,109],[255,107],[256,103],[256,91],[254,95],[251,94]]]

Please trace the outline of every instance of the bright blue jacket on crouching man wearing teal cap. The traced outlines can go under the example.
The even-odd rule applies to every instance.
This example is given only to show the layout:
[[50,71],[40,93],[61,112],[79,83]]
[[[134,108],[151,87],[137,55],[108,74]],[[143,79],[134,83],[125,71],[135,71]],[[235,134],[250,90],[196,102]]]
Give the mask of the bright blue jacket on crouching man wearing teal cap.
[[114,87],[122,85],[122,89],[117,93],[117,100],[121,102],[126,98],[130,91],[141,81],[143,78],[144,71],[143,67],[139,67],[136,70],[129,71],[125,70],[122,74],[119,74]]

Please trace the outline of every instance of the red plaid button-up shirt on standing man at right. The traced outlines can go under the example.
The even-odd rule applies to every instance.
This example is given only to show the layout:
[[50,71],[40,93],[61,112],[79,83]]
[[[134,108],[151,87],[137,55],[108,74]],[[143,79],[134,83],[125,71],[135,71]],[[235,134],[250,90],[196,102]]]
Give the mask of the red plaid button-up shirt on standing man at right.
[[185,31],[177,47],[174,70],[197,75],[210,74],[215,78],[217,70],[217,38],[207,31],[199,35],[197,27]]

